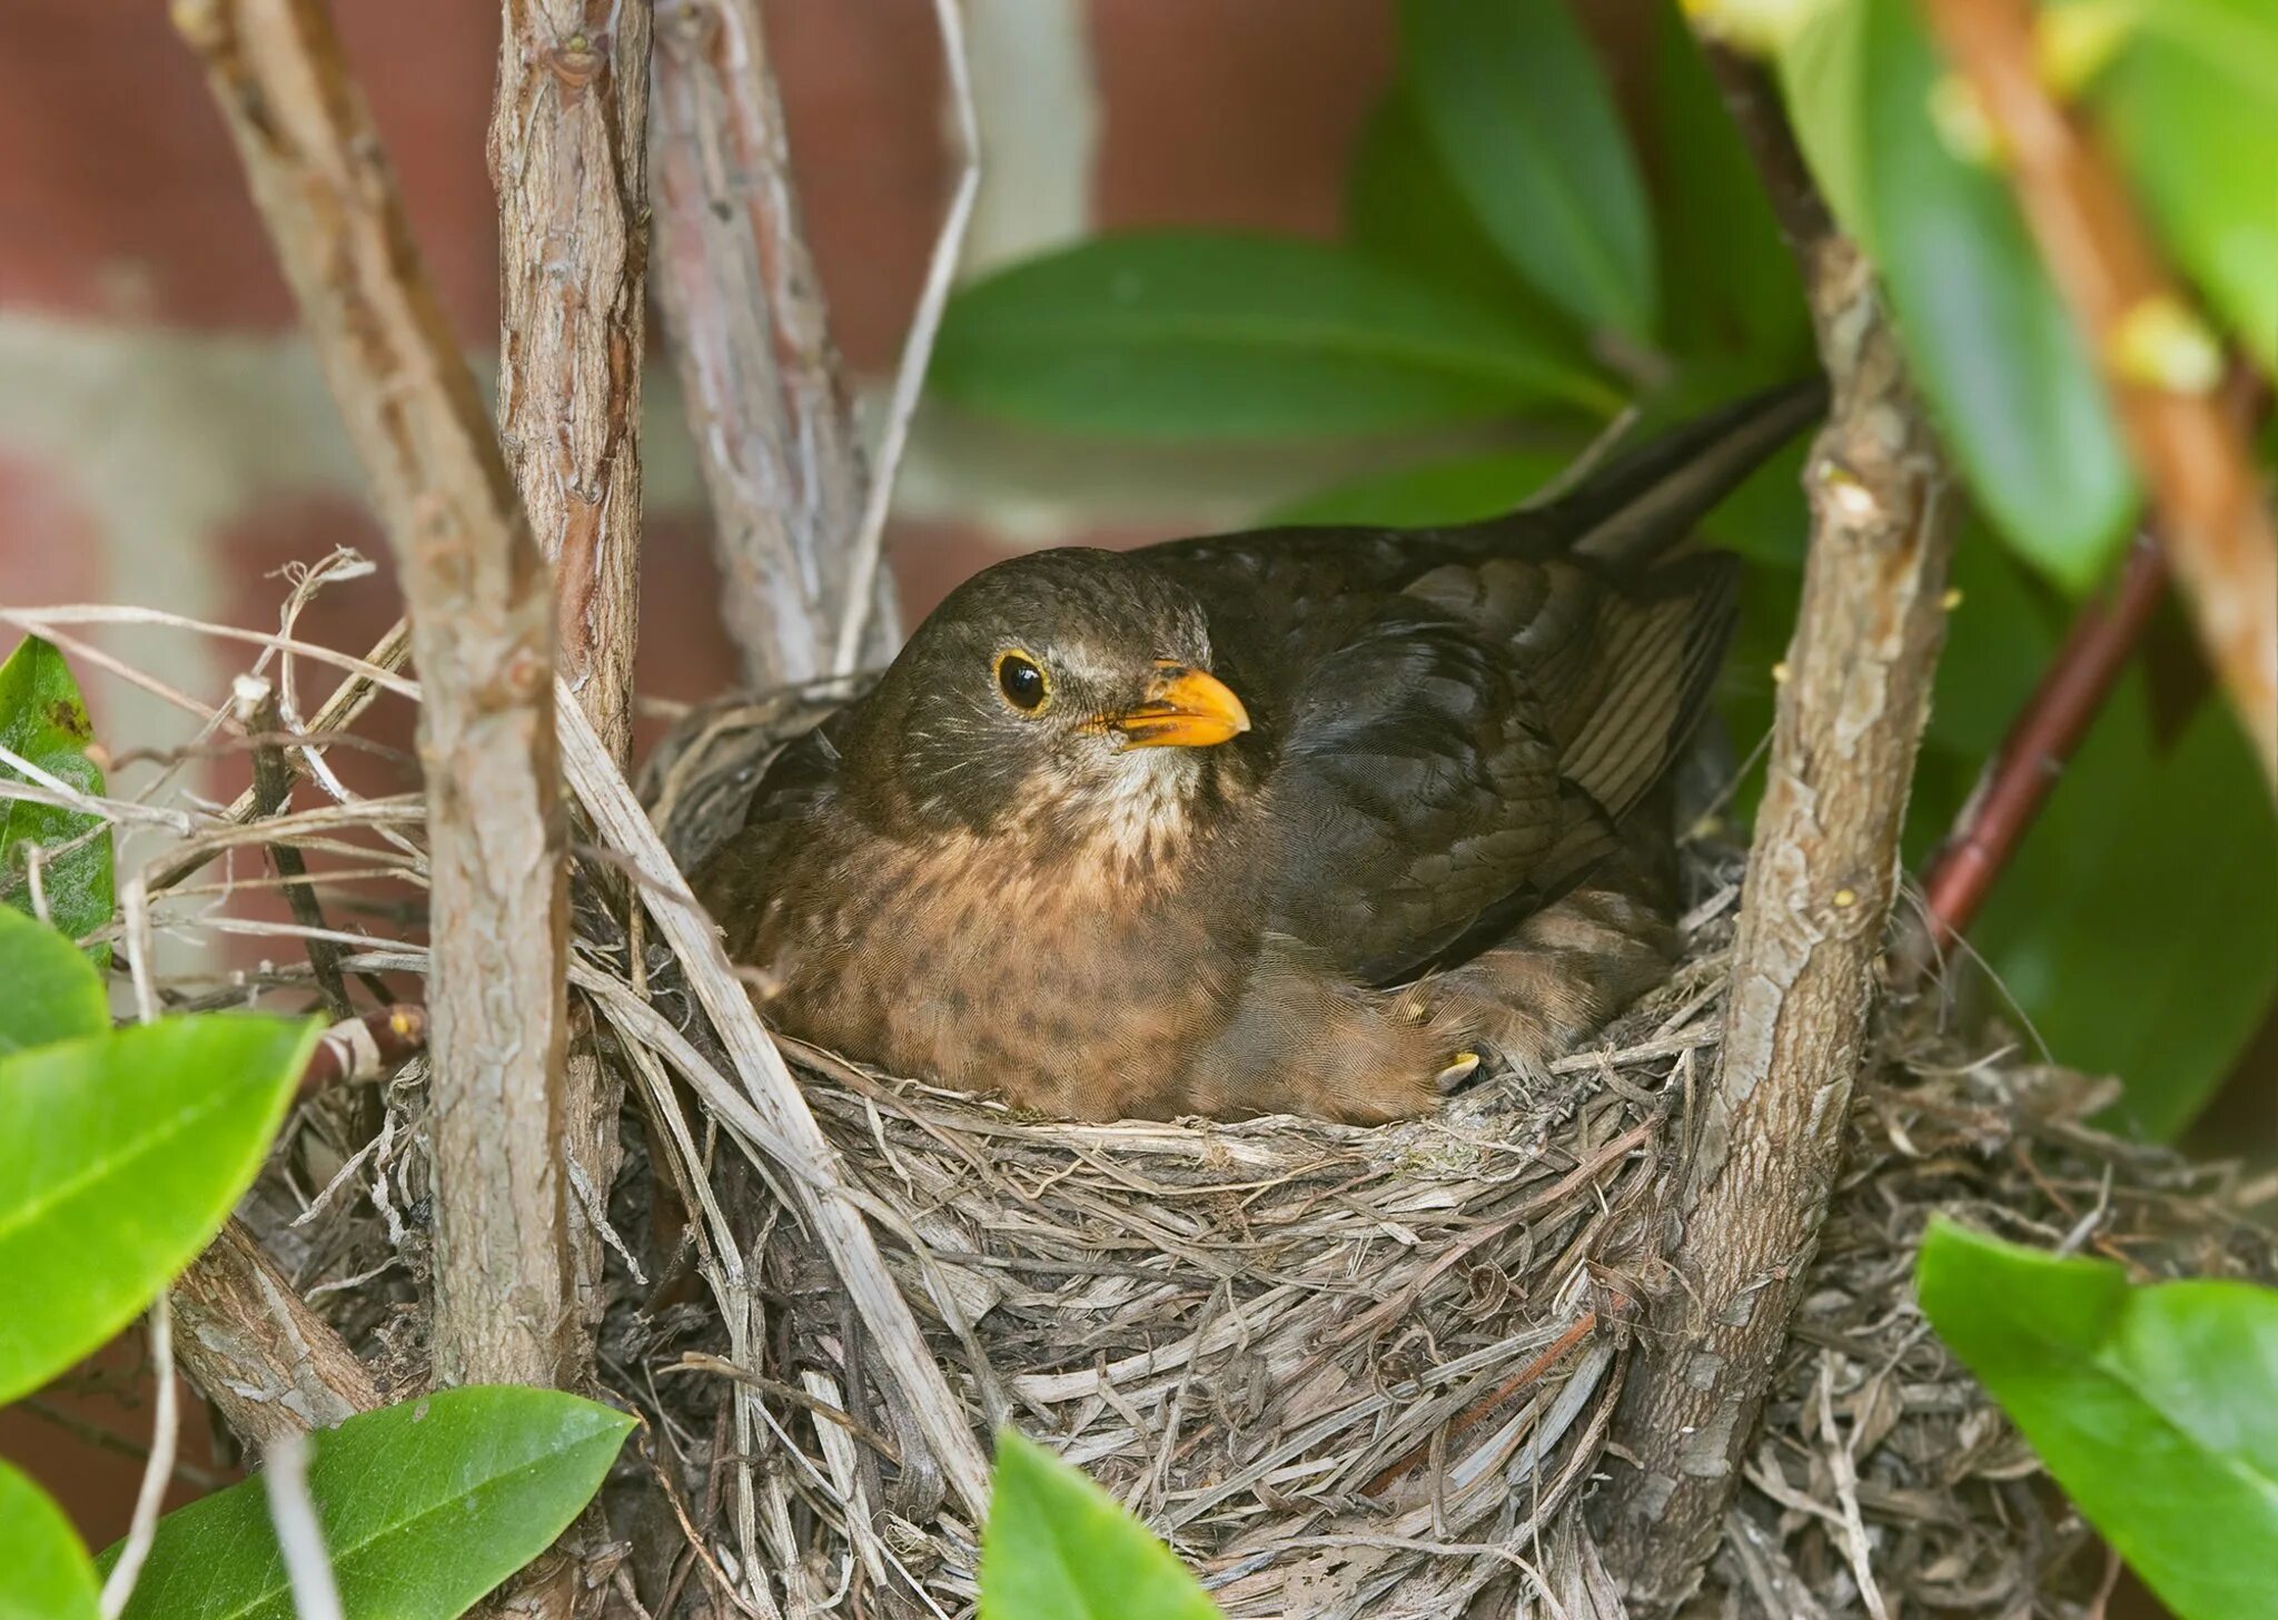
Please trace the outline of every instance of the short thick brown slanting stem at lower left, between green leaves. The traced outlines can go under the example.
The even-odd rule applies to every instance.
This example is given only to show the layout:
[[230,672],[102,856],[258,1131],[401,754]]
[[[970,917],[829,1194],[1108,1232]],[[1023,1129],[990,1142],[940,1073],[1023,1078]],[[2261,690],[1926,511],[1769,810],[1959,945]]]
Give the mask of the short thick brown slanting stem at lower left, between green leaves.
[[241,1221],[175,1278],[175,1365],[253,1449],[369,1413],[380,1390]]

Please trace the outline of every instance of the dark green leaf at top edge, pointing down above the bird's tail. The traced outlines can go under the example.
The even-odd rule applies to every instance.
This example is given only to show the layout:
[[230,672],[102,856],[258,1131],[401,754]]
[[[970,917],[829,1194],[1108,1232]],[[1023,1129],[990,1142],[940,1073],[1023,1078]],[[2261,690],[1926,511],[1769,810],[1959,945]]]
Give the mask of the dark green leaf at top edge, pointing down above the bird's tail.
[[1481,226],[1588,326],[1649,344],[1654,226],[1606,75],[1558,0],[1403,0],[1417,112]]

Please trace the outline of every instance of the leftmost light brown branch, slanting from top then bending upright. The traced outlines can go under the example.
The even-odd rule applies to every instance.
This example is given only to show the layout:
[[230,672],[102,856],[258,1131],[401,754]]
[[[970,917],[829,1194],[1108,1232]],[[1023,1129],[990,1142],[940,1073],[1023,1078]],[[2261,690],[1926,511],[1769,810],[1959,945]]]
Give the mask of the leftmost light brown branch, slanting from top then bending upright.
[[554,602],[321,0],[180,0],[394,545],[419,665],[435,1039],[435,1376],[556,1383],[579,1342],[563,1112]]

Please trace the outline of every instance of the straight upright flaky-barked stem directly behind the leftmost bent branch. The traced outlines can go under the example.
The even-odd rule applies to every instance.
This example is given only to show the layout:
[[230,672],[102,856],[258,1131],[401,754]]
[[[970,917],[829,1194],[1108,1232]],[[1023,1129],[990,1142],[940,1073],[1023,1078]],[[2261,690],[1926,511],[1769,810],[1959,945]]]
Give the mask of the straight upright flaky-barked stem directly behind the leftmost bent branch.
[[[620,768],[640,633],[647,121],[647,0],[503,0],[490,123],[499,440],[554,563],[563,681]],[[563,1073],[563,1153],[595,1208],[617,1178],[622,1101],[622,1078],[581,1030]],[[590,1333],[604,1249],[583,1196],[570,1201],[570,1237]]]

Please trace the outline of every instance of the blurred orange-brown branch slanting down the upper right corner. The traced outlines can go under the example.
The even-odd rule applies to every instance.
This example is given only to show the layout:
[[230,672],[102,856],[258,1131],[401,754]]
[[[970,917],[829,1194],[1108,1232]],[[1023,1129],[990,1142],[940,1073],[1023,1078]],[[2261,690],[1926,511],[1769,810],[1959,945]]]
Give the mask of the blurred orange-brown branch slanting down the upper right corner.
[[2041,84],[2030,0],[1923,9],[2000,137],[2025,223],[2112,387],[2207,661],[2278,786],[2278,529],[2246,433],[2212,387],[2130,360],[2137,324],[2185,305],[2112,164]]

